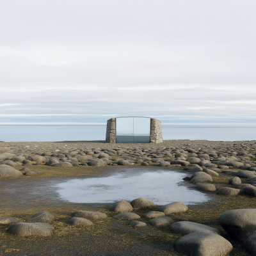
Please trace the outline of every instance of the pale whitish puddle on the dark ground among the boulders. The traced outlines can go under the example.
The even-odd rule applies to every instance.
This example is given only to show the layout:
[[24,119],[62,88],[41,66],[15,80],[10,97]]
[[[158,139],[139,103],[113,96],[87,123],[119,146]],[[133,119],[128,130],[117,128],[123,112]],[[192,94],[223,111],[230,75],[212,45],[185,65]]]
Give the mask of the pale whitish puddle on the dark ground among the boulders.
[[108,177],[72,179],[57,184],[60,198],[73,203],[112,203],[138,197],[164,205],[172,202],[198,204],[209,197],[182,182],[186,174],[173,170],[122,172]]

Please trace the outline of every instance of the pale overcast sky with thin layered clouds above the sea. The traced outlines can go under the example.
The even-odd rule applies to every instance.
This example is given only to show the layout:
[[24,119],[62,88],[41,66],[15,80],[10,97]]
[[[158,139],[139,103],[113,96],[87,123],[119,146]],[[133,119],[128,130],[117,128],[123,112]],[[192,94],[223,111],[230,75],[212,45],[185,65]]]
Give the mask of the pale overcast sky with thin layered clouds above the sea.
[[0,124],[256,124],[255,0],[0,0]]

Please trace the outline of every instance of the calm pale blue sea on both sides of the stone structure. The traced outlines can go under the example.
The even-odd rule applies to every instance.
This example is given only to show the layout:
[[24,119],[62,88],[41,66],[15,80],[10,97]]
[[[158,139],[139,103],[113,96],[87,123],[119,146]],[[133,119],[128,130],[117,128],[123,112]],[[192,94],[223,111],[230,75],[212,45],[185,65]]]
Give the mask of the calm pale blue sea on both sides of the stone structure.
[[[164,140],[256,140],[256,125],[162,125]],[[0,125],[1,141],[105,140],[106,125]]]

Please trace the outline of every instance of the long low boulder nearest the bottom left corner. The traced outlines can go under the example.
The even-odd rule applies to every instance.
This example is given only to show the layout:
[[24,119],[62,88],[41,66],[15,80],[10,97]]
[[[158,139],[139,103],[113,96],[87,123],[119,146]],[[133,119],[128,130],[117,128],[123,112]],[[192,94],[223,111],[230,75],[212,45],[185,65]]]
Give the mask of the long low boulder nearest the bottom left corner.
[[18,237],[51,236],[54,227],[48,223],[15,223],[7,232]]

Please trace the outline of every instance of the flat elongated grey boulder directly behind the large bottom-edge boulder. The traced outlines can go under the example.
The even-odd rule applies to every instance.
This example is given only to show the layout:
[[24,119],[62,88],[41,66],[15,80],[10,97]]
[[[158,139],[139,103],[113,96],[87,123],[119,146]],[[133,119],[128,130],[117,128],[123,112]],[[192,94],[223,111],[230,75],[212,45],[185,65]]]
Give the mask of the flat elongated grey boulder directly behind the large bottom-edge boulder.
[[212,228],[207,225],[191,222],[191,221],[178,221],[172,224],[170,227],[172,231],[179,234],[188,235],[193,232],[206,232],[216,235],[220,235],[221,231],[218,228]]

